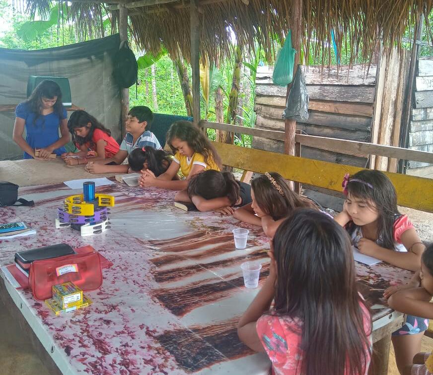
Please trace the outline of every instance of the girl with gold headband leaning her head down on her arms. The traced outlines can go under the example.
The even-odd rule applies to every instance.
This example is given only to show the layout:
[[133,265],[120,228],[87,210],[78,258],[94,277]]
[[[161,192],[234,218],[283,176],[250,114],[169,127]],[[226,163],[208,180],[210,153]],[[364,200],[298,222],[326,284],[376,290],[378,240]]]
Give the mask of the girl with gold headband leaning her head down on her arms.
[[[315,208],[309,199],[296,194],[277,172],[266,172],[251,182],[252,203],[236,211],[234,217],[248,224],[263,227],[273,237],[279,225],[295,208]],[[257,216],[256,216],[256,215]]]

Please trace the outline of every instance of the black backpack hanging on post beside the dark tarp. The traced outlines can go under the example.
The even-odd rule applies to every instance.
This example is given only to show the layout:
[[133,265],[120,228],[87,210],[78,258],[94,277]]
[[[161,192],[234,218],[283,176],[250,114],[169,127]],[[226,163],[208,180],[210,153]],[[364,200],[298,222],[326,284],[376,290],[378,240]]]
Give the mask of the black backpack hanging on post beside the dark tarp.
[[120,87],[128,88],[137,82],[139,66],[128,42],[123,42],[122,47],[114,56],[113,65],[113,76]]

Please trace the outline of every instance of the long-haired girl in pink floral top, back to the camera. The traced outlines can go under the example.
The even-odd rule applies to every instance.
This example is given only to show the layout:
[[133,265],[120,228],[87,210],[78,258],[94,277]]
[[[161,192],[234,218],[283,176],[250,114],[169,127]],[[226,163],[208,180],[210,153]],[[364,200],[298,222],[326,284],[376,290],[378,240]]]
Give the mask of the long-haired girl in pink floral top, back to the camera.
[[240,340],[265,351],[275,374],[367,374],[372,322],[343,228],[322,212],[296,209],[269,256],[269,276],[239,321]]

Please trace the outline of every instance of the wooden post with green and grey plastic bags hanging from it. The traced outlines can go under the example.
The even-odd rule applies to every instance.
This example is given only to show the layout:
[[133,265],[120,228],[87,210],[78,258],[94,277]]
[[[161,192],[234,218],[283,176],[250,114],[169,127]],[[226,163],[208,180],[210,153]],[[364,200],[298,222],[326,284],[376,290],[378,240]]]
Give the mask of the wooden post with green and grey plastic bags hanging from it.
[[[301,37],[301,19],[302,19],[302,0],[291,1],[290,6],[290,29],[291,29],[291,45],[296,50],[294,56],[294,67],[293,67],[293,77],[296,74],[297,65],[299,63],[300,56],[300,37]],[[287,86],[286,101],[289,97],[291,83]],[[289,155],[294,155],[295,153],[295,131],[296,131],[296,121],[285,120],[285,131],[286,137],[284,140],[284,152]]]

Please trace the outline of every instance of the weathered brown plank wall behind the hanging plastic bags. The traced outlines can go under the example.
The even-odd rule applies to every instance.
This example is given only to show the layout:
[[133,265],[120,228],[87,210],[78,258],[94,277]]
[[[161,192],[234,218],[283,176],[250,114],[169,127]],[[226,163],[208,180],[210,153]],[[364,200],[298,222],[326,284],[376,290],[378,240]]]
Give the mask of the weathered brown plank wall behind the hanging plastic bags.
[[[371,141],[371,125],[375,94],[376,67],[371,65],[368,74],[364,65],[341,66],[330,69],[303,67],[309,95],[310,117],[296,124],[298,130],[309,135],[340,139]],[[350,73],[350,74],[348,74]],[[274,85],[272,69],[259,67],[256,77],[257,114],[256,128],[284,131],[283,111],[286,107],[286,88]],[[255,136],[253,148],[283,152],[280,140]],[[365,167],[366,159],[332,151],[302,146],[305,158]]]

